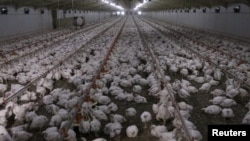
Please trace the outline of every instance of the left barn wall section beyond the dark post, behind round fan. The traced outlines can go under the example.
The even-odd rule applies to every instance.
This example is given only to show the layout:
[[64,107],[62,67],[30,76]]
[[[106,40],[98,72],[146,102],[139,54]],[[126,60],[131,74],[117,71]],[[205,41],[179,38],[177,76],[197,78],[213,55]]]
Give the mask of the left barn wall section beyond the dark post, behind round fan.
[[85,24],[97,22],[111,17],[110,12],[95,12],[95,11],[73,11],[73,10],[58,10],[57,11],[57,24],[58,27],[73,26],[73,17],[84,17]]

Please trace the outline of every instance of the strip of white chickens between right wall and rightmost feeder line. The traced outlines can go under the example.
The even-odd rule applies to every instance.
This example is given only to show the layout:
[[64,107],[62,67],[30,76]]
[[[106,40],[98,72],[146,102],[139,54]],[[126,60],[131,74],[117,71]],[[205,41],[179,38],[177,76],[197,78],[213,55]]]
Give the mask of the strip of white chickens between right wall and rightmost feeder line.
[[[156,25],[157,26],[157,25]],[[163,32],[179,37],[178,40],[198,52],[211,62],[237,76],[250,87],[250,49],[247,43],[235,40],[223,40],[209,33],[193,32],[188,28],[170,25],[168,28],[158,26]],[[171,32],[173,31],[173,32]]]

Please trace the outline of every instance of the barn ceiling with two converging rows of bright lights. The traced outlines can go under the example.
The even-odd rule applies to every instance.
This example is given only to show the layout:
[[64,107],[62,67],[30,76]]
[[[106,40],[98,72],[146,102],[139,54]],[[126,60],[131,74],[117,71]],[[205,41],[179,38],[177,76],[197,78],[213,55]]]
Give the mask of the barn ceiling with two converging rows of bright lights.
[[[106,0],[123,7],[125,10],[133,10],[138,4],[145,4],[139,9],[144,11],[180,9],[191,7],[212,7],[221,5],[224,7],[232,4],[243,3],[250,5],[250,0]],[[0,5],[19,7],[47,7],[48,9],[79,9],[114,11],[115,7],[104,3],[103,0],[0,0]]]

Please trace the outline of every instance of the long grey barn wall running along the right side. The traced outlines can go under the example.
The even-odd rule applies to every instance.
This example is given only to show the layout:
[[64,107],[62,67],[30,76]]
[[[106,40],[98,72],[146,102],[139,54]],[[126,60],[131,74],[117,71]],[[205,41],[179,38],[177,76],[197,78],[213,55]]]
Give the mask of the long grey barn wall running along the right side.
[[[239,5],[241,8],[240,13],[234,13],[234,7]],[[182,12],[180,10],[171,10],[143,12],[142,15],[181,26],[234,37],[250,38],[250,7],[247,5],[237,4],[228,8],[221,7],[220,13],[215,13],[215,7],[206,8],[206,13],[203,13],[202,9],[197,9],[195,13],[191,9],[189,13],[185,13],[184,10]]]

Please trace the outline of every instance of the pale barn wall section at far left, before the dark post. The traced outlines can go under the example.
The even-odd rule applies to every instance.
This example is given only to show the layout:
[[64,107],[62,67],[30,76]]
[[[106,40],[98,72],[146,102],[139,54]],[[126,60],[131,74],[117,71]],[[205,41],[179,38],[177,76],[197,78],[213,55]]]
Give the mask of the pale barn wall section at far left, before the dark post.
[[8,14],[0,14],[0,38],[18,36],[52,29],[51,11],[29,8],[30,13],[24,14],[24,8],[15,9],[8,6]]

